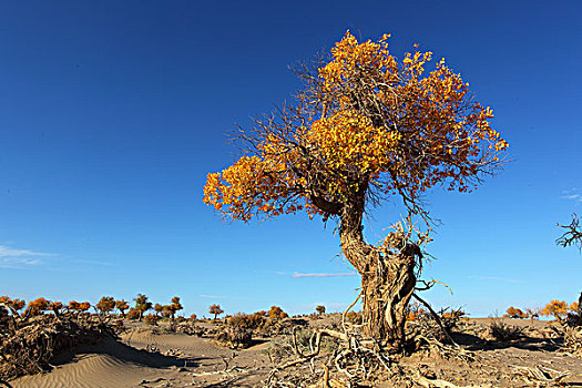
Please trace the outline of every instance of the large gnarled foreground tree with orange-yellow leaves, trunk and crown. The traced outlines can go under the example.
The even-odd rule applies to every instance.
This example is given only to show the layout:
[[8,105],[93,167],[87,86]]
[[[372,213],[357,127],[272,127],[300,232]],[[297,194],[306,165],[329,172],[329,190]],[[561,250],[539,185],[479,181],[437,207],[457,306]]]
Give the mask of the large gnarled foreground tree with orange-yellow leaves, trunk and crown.
[[[234,135],[244,154],[207,175],[204,202],[243,222],[304,211],[336,221],[344,256],[361,275],[364,334],[402,347],[429,239],[408,233],[410,218],[430,224],[423,194],[476,188],[502,166],[508,144],[491,127],[492,111],[445,60],[428,71],[432,53],[415,49],[400,61],[388,38],[358,42],[348,31],[329,62],[299,65],[305,86]],[[394,198],[408,224],[381,246],[367,243],[365,213]]]

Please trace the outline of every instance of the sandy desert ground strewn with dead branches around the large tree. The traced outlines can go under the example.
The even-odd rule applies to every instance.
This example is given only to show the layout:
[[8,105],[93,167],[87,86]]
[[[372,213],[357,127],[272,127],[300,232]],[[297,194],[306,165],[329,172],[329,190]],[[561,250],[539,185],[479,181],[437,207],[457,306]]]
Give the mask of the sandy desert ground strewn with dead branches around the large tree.
[[[493,321],[520,327],[521,336],[493,338]],[[55,355],[52,370],[8,382],[14,388],[266,387],[270,376],[272,387],[582,386],[582,357],[564,349],[562,329],[552,321],[461,318],[451,330],[460,348],[425,344],[358,384],[330,367],[331,343],[312,363],[274,372],[297,359],[289,345],[294,331],[337,329],[341,326],[339,314],[284,319],[276,329],[254,334],[245,348],[216,340],[223,324],[221,319],[186,321],[182,325],[195,328],[186,334],[167,321],[146,326],[125,320],[118,338],[105,336],[76,346]]]

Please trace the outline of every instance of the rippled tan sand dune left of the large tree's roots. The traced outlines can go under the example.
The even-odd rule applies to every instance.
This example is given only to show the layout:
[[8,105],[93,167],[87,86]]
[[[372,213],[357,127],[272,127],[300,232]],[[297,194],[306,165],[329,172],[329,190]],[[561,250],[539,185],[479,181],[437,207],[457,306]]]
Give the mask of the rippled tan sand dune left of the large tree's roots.
[[10,384],[14,388],[221,386],[232,380],[225,371],[226,359],[231,368],[244,366],[254,372],[246,376],[243,371],[233,386],[254,387],[269,370],[264,347],[238,351],[234,358],[233,350],[206,338],[137,328],[122,335],[121,341],[110,338],[80,347],[74,355],[63,355],[48,374],[24,376]]

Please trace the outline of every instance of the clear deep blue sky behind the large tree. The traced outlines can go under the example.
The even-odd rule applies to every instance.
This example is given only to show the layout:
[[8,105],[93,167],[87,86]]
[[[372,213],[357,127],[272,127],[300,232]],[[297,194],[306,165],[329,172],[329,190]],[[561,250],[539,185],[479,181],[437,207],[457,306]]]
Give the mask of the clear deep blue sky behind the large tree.
[[[581,13],[580,1],[2,1],[0,294],[178,295],[198,315],[351,303],[359,279],[334,225],[231,224],[202,203],[206,173],[236,156],[224,133],[288,99],[300,84],[287,67],[350,29],[391,33],[396,55],[419,43],[446,57],[511,145],[477,192],[427,197],[442,225],[425,277],[455,295],[425,297],[472,316],[573,302],[582,255],[554,239],[582,213]],[[370,242],[399,210],[372,215]]]

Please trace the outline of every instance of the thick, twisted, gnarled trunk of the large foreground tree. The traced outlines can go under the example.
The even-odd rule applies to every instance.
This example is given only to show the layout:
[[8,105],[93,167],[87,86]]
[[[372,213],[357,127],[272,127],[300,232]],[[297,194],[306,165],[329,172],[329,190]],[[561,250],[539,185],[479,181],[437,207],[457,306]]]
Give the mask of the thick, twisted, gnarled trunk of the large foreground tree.
[[415,266],[420,248],[405,236],[390,234],[385,246],[364,241],[364,206],[341,215],[341,251],[361,275],[364,334],[397,348],[405,345],[405,309],[416,286]]

